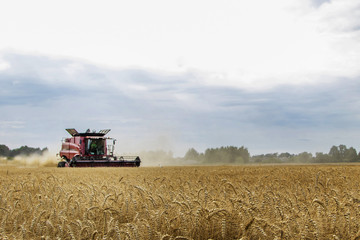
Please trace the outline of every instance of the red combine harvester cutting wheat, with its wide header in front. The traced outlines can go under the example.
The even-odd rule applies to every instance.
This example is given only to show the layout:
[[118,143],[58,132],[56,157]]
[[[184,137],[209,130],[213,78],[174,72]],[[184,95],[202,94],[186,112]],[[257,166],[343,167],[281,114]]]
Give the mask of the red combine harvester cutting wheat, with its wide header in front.
[[116,139],[105,137],[110,129],[78,133],[66,129],[72,136],[63,140],[58,167],[140,167],[138,156],[114,156]]

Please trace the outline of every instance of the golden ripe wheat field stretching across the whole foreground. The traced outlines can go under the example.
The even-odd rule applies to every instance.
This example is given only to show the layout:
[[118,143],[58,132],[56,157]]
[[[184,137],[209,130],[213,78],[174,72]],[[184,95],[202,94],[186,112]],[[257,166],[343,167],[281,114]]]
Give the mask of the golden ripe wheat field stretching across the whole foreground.
[[0,166],[0,239],[360,239],[360,166]]

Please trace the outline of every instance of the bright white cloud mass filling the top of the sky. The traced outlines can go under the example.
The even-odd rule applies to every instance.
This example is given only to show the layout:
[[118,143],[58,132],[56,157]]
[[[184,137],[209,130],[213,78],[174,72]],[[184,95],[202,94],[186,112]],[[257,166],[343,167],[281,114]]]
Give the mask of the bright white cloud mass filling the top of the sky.
[[0,8],[0,50],[256,90],[360,75],[358,0],[20,2]]

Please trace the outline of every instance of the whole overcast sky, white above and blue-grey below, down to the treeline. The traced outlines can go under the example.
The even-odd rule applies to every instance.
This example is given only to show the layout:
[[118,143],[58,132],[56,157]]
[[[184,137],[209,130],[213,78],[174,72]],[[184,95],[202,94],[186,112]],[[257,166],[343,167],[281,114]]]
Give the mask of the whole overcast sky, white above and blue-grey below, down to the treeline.
[[0,2],[0,144],[360,150],[360,0]]

